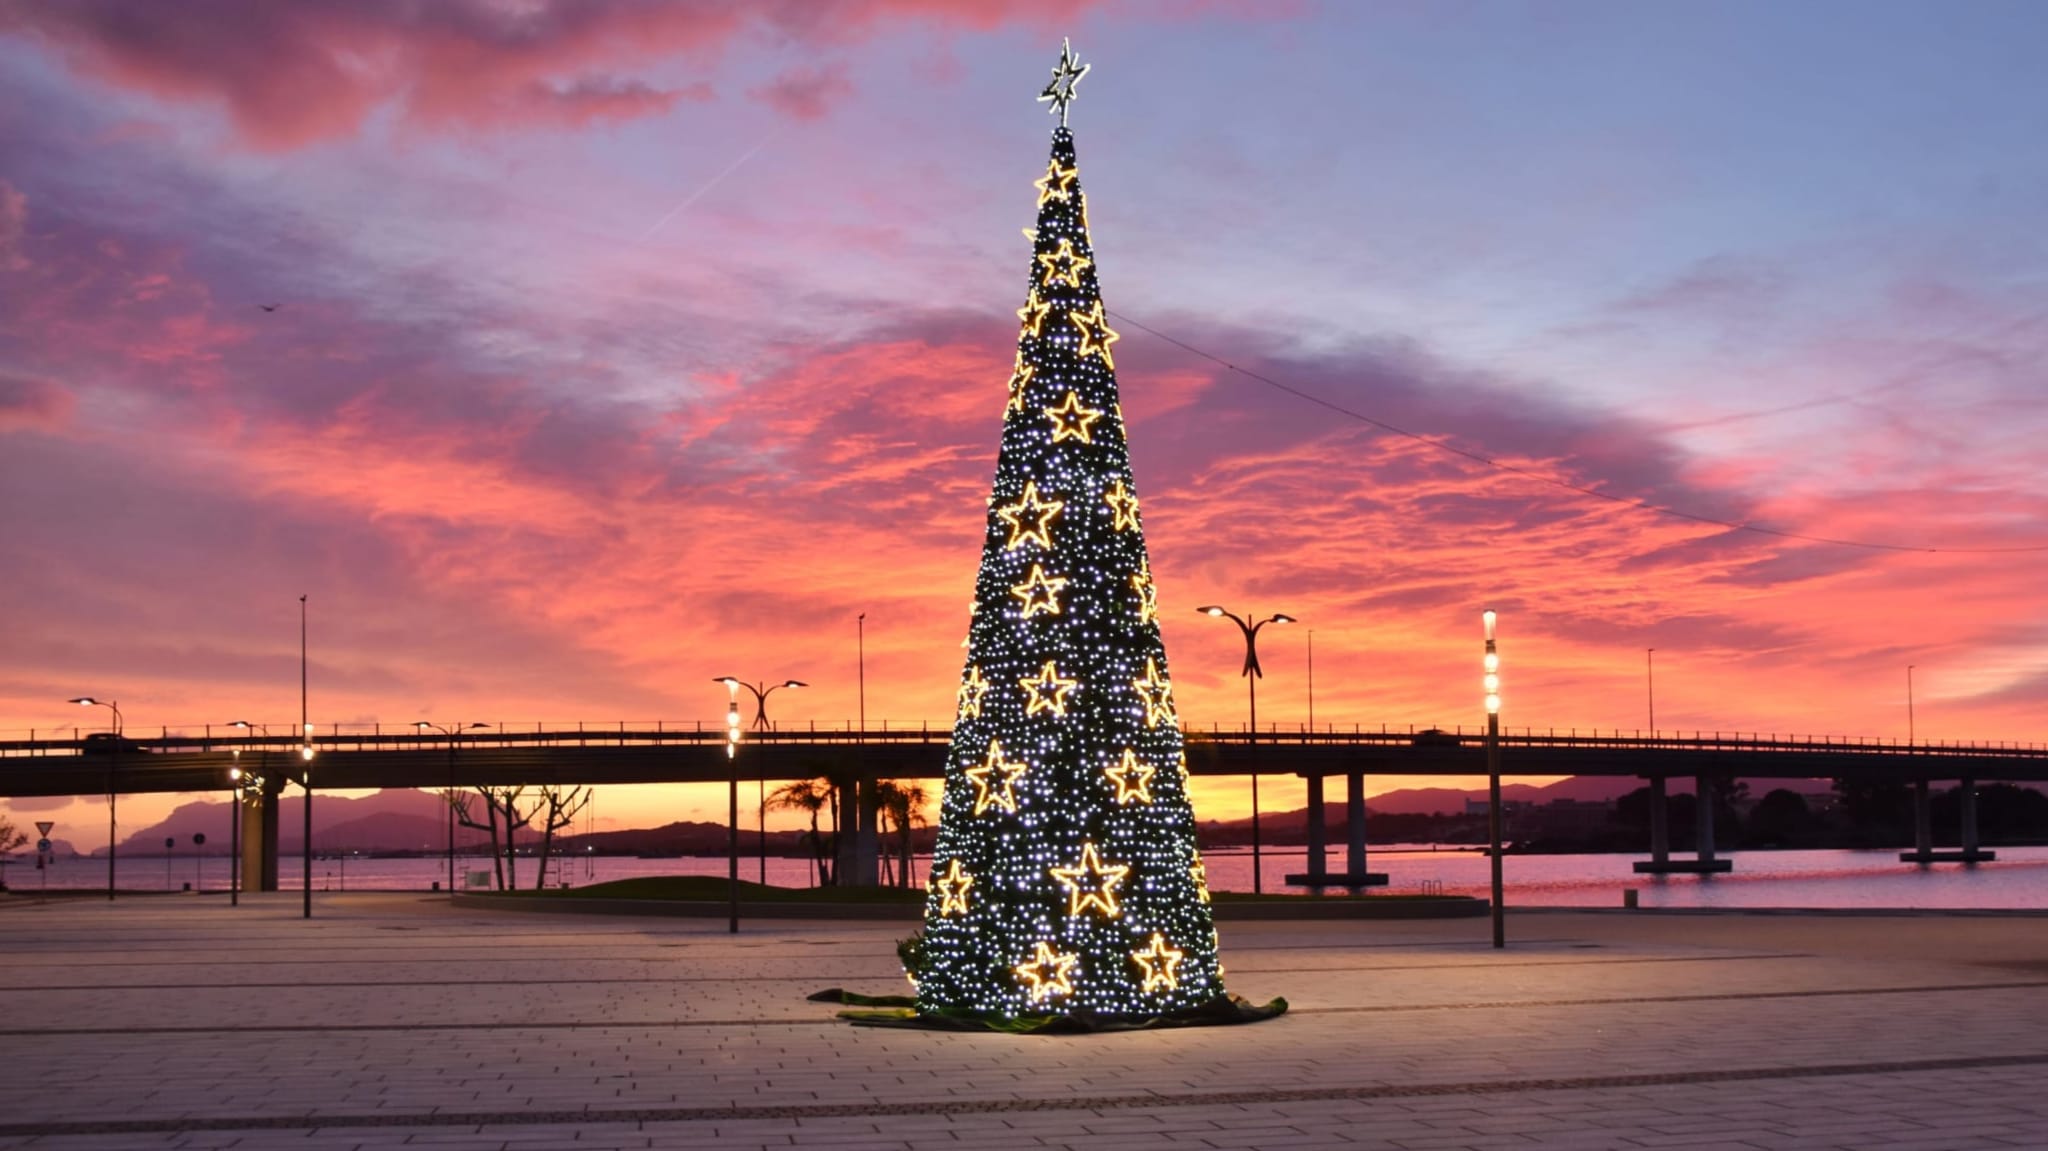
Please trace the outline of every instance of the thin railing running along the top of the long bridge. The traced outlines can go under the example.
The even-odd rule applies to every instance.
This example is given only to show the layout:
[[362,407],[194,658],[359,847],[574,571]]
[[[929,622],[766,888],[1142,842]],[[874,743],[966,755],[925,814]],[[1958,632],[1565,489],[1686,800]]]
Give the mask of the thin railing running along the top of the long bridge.
[[[879,721],[881,725],[860,731],[852,721],[844,723],[780,723],[770,731],[745,731],[748,743],[946,743],[952,731],[946,723],[901,723]],[[246,733],[231,725],[160,727],[154,733],[139,733],[129,727],[131,750],[145,754],[176,752],[225,752],[272,750],[285,752],[301,743],[297,723],[256,725],[256,733]],[[90,727],[59,727],[55,731],[18,731],[0,739],[0,758],[6,756],[78,756],[96,750],[88,743]],[[1481,748],[1483,727],[1417,727],[1417,725],[1280,725],[1262,727],[1257,733],[1239,725],[1182,725],[1190,743],[1282,743],[1282,745],[1339,745],[1339,748]],[[315,725],[305,735],[315,752],[399,752],[399,750],[444,750],[455,748],[561,748],[561,745],[694,745],[723,743],[723,721],[569,721],[569,723],[500,723],[487,729],[465,729],[455,735],[442,731],[418,731],[412,723],[328,723]],[[1585,748],[1585,750],[1698,750],[1698,752],[1841,752],[1855,756],[2017,756],[2048,758],[2048,743],[2021,741],[1907,741],[1888,737],[1849,735],[1780,735],[1759,731],[1622,731],[1622,729],[1556,729],[1520,727],[1501,731],[1503,748]]]

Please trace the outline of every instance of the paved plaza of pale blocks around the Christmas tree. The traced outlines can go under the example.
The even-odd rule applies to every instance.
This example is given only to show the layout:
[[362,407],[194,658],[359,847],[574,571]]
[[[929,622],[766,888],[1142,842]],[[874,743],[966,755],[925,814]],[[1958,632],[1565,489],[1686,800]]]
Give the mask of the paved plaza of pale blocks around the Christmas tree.
[[0,903],[0,1147],[2048,1147],[2048,918],[1223,924],[1280,1020],[854,1028],[907,924]]

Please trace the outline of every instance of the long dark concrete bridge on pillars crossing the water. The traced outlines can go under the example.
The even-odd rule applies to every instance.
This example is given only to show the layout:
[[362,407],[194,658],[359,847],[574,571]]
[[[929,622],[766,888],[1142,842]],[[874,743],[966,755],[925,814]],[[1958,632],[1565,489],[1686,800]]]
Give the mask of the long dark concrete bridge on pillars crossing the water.
[[[293,731],[295,725],[276,725]],[[0,797],[139,795],[227,791],[240,768],[260,780],[244,805],[244,875],[254,889],[276,887],[276,797],[287,784],[311,788],[471,788],[508,784],[756,782],[829,776],[848,797],[850,834],[842,836],[844,875],[874,883],[877,793],[883,778],[944,774],[952,733],[918,729],[752,731],[727,758],[725,729],[705,725],[565,725],[532,729],[420,733],[328,729],[295,737],[246,735],[240,729],[162,731],[150,739],[0,741]],[[1364,780],[1374,774],[1485,776],[1483,729],[1325,727],[1317,731],[1186,729],[1188,770],[1198,776],[1300,776],[1309,795],[1309,870],[1294,883],[1366,887],[1384,883],[1368,870]],[[1714,872],[1731,860],[1714,854],[1714,805],[1696,803],[1696,856],[1671,858],[1667,784],[1696,780],[1704,795],[1720,778],[1868,778],[1913,786],[1915,850],[1909,862],[1976,862],[1976,780],[2048,782],[2048,745],[1905,743],[1763,735],[1735,731],[1503,731],[1503,776],[1636,776],[1651,788],[1649,860],[1642,872]],[[303,748],[313,758],[303,758]],[[1346,866],[1327,868],[1325,782],[1346,795]],[[1935,852],[1929,784],[1960,782],[1958,852]],[[1253,807],[1253,819],[1257,807]]]

